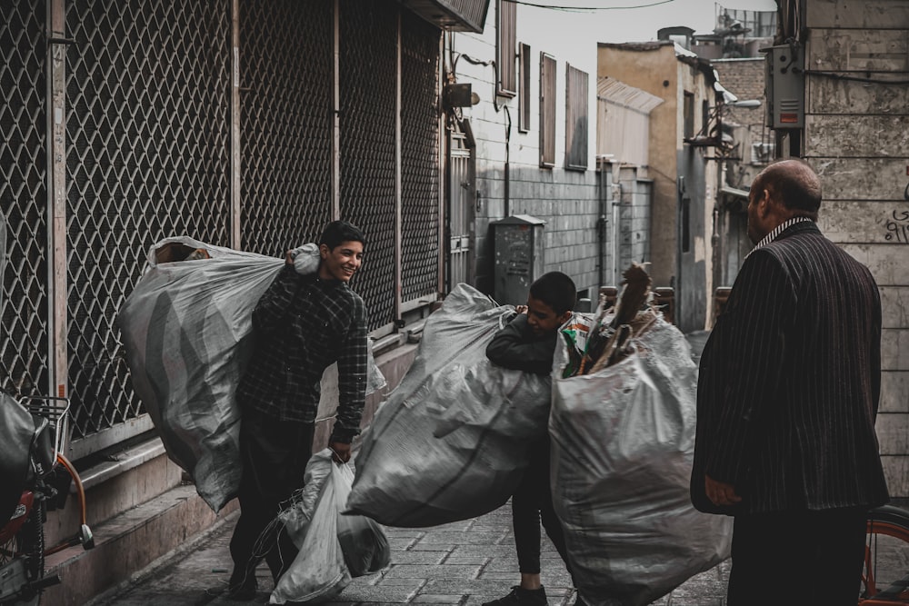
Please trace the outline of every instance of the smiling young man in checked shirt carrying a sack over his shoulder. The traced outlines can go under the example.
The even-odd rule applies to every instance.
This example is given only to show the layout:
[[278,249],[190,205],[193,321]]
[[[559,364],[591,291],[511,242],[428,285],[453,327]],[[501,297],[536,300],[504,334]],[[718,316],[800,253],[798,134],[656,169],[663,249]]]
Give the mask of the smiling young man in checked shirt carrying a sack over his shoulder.
[[364,244],[353,224],[328,224],[319,239],[318,271],[296,273],[287,253],[285,267],[253,311],[254,351],[237,387],[243,476],[230,543],[228,593],[234,600],[255,598],[255,566],[263,555],[275,581],[294,561],[296,549],[283,532],[265,554],[255,551],[255,543],[281,502],[304,484],[322,374],[333,363],[339,395],[328,446],[341,461],[350,459],[364,407],[367,346],[365,305],[347,283],[363,263]]

